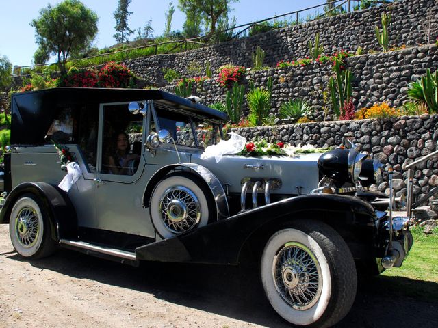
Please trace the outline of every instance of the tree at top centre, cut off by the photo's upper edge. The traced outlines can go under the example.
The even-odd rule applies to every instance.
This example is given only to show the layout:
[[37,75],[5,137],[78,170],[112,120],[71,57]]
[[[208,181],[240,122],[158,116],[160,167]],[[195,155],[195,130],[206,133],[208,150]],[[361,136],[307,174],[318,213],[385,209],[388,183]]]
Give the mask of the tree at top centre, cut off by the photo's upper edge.
[[207,27],[207,35],[216,32],[216,25],[220,18],[225,18],[230,10],[229,3],[239,0],[179,0],[179,8],[192,21],[194,17],[201,17]]

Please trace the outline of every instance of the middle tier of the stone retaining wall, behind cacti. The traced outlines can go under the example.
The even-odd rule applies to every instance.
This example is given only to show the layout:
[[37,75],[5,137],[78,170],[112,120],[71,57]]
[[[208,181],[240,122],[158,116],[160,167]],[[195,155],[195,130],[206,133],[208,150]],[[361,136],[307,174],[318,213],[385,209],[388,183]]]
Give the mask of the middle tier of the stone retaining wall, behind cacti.
[[[389,53],[367,54],[348,57],[347,68],[352,71],[352,98],[357,109],[371,107],[375,102],[387,102],[400,106],[407,100],[407,87],[417,81],[426,69],[434,71],[438,67],[438,46],[417,46]],[[324,101],[323,92],[328,91],[331,63],[309,64],[303,67],[270,68],[246,74],[242,83],[248,91],[249,81],[255,86],[266,85],[272,77],[272,109],[276,114],[281,105],[289,99],[302,98],[313,105],[313,118],[324,120],[324,107],[331,109],[331,99]],[[175,92],[175,84],[162,87]],[[194,94],[201,96],[206,105],[225,101],[224,87],[216,79],[203,83]],[[330,96],[329,96],[330,97]],[[244,113],[248,113],[244,103]],[[333,116],[329,116],[333,118]]]

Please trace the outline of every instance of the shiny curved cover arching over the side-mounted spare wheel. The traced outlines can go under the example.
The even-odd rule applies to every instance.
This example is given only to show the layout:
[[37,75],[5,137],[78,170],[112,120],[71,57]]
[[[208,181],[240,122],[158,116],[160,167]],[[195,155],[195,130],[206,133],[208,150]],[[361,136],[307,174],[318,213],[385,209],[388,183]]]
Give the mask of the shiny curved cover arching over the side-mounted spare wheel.
[[144,191],[143,196],[143,206],[149,207],[149,200],[151,198],[153,189],[157,185],[157,183],[166,176],[170,171],[174,171],[177,169],[185,169],[192,174],[202,178],[205,181],[207,187],[211,191],[211,195],[214,198],[216,203],[216,213],[218,213],[218,220],[226,219],[229,217],[229,207],[227,202],[227,195],[220,184],[220,181],[216,176],[206,169],[202,165],[195,163],[179,163],[166,165],[159,169],[155,174],[149,179],[149,182],[146,184],[146,189]]

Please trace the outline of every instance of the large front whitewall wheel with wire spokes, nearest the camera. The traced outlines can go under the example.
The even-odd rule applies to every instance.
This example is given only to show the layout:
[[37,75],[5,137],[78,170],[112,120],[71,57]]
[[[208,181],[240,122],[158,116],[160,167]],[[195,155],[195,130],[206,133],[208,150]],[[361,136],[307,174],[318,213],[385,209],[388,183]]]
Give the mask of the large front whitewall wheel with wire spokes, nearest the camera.
[[357,274],[350,249],[333,228],[297,221],[274,233],[261,258],[261,280],[272,307],[285,320],[331,327],[355,300]]

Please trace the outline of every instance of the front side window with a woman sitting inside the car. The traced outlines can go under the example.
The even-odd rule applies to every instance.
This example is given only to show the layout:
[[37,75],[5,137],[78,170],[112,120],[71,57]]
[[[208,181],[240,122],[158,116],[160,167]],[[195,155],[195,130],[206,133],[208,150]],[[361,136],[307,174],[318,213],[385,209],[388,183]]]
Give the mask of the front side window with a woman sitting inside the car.
[[143,115],[129,113],[126,103],[103,107],[101,173],[136,173],[142,150],[142,124]]

